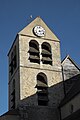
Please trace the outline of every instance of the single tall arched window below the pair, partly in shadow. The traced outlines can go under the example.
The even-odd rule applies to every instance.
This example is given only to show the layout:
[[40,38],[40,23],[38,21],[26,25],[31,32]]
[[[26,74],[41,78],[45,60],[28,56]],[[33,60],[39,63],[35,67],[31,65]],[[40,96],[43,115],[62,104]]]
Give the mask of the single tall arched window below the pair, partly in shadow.
[[38,95],[38,105],[47,106],[48,104],[48,85],[47,77],[44,73],[39,73],[37,75],[37,95]]

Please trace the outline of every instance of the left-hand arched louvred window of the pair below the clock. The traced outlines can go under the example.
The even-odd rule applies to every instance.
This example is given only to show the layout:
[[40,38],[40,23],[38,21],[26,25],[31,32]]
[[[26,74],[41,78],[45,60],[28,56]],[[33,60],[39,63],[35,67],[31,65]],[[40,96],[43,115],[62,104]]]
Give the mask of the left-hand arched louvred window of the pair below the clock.
[[40,63],[39,44],[35,40],[29,42],[29,60],[30,62]]

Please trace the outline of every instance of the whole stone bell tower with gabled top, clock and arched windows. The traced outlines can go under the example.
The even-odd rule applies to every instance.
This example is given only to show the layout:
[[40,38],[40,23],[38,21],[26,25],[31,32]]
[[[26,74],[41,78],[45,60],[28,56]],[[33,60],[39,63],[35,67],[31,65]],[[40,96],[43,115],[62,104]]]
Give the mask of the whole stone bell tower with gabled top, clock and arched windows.
[[52,120],[64,96],[59,39],[37,17],[17,34],[8,57],[9,110],[26,106],[30,116]]

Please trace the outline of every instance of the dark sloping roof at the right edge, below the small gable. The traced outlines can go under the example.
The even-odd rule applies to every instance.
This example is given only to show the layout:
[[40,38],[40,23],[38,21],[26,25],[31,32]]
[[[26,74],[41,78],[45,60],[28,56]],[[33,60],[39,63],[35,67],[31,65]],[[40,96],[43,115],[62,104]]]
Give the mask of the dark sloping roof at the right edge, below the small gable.
[[71,90],[67,93],[64,99],[60,103],[60,107],[69,102],[72,98],[74,98],[77,94],[80,93],[80,74],[70,78],[69,80],[75,80],[74,85]]

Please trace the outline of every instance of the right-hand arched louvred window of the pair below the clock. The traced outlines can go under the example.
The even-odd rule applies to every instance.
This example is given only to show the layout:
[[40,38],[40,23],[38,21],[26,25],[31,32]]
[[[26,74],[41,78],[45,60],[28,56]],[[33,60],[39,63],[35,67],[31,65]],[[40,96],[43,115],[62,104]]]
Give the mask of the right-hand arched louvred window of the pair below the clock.
[[47,42],[42,44],[42,63],[52,65],[51,46]]

